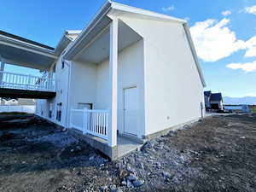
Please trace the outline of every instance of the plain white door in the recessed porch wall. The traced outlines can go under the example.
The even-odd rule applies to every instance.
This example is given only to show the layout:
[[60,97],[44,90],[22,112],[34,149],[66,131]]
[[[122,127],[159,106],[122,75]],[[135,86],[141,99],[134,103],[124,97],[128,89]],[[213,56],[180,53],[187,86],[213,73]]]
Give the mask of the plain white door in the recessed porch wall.
[[137,136],[137,87],[125,89],[124,100],[125,133]]

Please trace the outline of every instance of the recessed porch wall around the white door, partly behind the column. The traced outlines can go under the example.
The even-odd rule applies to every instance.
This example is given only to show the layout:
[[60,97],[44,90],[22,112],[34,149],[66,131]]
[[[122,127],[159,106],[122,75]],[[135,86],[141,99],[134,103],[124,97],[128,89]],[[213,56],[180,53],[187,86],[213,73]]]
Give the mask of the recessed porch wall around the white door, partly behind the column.
[[[138,113],[137,136],[144,135],[144,84],[143,84],[143,40],[121,50],[118,57],[118,130],[124,132],[124,89],[136,86],[138,91],[138,103],[140,110]],[[107,109],[109,101],[108,93],[108,68],[109,61],[103,61],[97,66],[96,72],[96,108]]]

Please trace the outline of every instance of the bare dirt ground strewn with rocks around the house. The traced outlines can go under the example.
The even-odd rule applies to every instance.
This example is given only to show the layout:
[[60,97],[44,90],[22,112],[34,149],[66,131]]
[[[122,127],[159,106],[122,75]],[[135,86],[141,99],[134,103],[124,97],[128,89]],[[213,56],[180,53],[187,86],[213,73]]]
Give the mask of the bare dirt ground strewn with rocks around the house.
[[208,117],[116,161],[42,119],[3,116],[0,191],[256,191],[256,114]]

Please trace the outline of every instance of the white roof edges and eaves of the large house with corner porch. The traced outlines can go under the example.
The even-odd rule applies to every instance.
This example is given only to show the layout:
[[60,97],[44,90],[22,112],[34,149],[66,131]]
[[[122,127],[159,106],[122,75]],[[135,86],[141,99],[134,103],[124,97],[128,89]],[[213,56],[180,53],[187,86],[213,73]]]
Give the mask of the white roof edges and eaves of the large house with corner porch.
[[171,20],[174,22],[181,23],[184,27],[184,31],[186,32],[186,36],[188,38],[189,47],[191,49],[191,52],[195,61],[195,65],[201,79],[201,84],[204,87],[206,86],[206,82],[203,77],[203,73],[201,71],[201,66],[198,61],[197,54],[195,52],[195,46],[193,44],[193,41],[189,32],[189,26],[186,20],[177,19],[169,15],[158,14],[145,9],[134,8],[124,4],[115,3],[110,0],[108,0],[102,5],[102,8],[96,13],[94,18],[90,20],[89,25],[86,26],[84,30],[79,34],[79,37],[76,38],[76,40],[74,40],[72,44],[69,44],[67,48],[67,52],[64,55],[64,59],[72,60],[72,58],[79,52],[78,49],[82,49],[83,44],[89,43],[91,39],[96,37],[98,32],[101,32],[106,26],[108,26],[108,24],[112,21],[108,17],[108,13],[110,13],[111,11],[115,12],[114,15],[129,13],[131,15],[137,15],[143,18],[150,18],[154,20]]

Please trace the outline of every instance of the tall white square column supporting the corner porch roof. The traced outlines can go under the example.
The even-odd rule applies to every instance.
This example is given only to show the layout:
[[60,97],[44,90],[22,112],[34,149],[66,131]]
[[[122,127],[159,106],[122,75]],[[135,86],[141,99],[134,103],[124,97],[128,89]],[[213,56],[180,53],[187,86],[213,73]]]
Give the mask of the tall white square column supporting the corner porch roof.
[[110,24],[108,146],[117,145],[118,19]]

